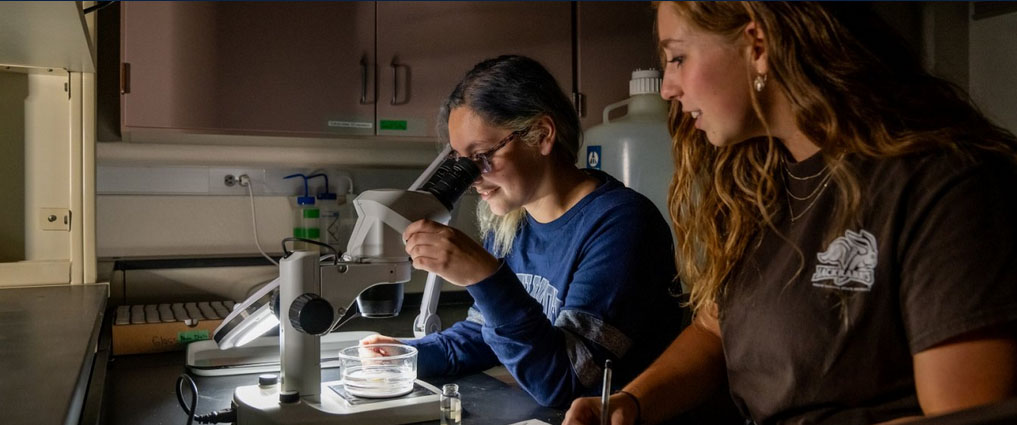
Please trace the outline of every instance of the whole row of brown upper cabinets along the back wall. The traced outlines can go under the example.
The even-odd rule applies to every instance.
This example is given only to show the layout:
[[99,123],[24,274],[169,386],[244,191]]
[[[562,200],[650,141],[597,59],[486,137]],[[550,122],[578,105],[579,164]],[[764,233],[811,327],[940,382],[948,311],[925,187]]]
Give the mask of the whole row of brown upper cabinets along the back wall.
[[[432,139],[441,102],[481,60],[530,56],[566,94],[582,92],[590,105],[603,108],[624,99],[629,74],[652,65],[655,57],[648,3],[122,2],[120,7],[120,113],[128,134],[172,129]],[[618,16],[623,19],[612,20]],[[577,72],[577,65],[583,69]],[[590,112],[587,119],[596,120],[584,120],[585,127],[600,122],[599,111]]]

